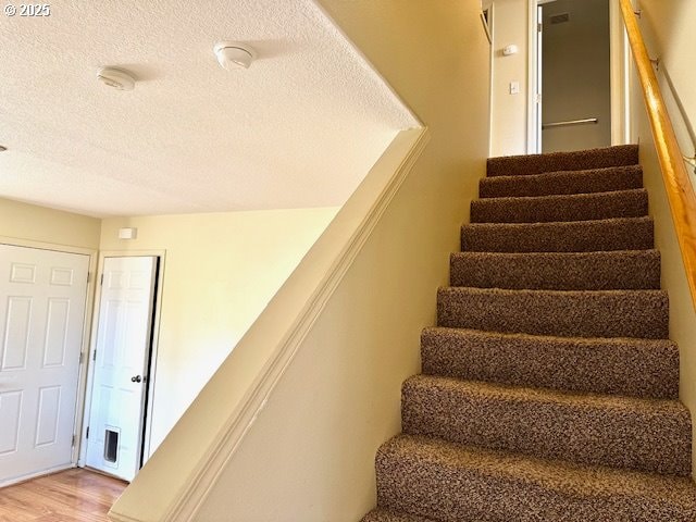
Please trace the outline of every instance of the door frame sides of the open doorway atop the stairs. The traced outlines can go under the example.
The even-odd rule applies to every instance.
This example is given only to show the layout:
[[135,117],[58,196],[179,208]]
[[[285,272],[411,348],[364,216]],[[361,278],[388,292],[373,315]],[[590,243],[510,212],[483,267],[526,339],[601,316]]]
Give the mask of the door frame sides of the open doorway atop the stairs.
[[[542,151],[537,136],[542,135],[542,122],[536,112],[537,75],[537,7],[556,0],[527,0],[527,110],[526,110],[526,153]],[[610,42],[610,98],[611,98],[611,145],[631,142],[630,96],[630,54],[629,38],[623,28],[619,0],[609,0],[609,42]]]

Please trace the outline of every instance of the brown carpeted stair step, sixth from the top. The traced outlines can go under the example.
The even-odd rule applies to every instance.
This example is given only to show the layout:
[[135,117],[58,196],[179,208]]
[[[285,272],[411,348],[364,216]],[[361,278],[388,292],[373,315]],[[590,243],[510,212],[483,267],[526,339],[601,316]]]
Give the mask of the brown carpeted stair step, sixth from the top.
[[445,287],[438,326],[563,337],[669,337],[663,290],[505,290]]

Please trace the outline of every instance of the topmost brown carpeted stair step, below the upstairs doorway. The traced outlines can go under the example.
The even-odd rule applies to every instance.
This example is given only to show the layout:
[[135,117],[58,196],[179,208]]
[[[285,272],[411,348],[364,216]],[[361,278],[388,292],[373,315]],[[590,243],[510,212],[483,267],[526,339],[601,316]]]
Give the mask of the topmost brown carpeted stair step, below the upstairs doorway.
[[573,152],[490,158],[486,174],[488,176],[524,176],[543,172],[582,171],[637,163],[638,146],[621,145]]

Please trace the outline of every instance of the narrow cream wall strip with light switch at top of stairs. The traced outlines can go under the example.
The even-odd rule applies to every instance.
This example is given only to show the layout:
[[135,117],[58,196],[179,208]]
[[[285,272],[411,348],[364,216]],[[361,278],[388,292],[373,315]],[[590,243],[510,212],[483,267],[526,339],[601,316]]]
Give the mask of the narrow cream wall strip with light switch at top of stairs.
[[[527,20],[527,0],[494,2],[490,156],[526,153]],[[519,52],[504,57],[509,45]],[[510,82],[520,83],[519,95],[510,95]]]

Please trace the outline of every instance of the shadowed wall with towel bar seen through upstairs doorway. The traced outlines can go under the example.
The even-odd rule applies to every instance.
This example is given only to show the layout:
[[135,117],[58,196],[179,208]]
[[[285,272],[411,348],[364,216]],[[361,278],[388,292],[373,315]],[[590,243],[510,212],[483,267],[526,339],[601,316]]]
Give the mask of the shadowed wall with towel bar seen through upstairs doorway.
[[[550,16],[570,21],[551,24]],[[542,150],[611,145],[609,0],[557,0],[544,7],[544,122],[597,117],[596,125],[542,132]]]

